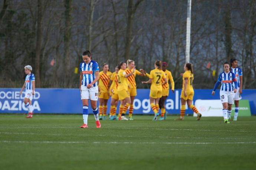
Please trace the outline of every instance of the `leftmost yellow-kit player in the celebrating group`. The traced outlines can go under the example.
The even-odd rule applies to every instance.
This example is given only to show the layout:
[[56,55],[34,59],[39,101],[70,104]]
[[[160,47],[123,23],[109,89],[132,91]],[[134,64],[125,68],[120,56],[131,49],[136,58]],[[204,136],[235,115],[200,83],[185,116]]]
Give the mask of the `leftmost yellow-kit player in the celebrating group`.
[[[108,64],[102,65],[103,70],[99,72],[99,120],[106,120],[106,110],[109,98],[108,84],[111,76],[111,72],[108,71]],[[103,116],[102,116],[103,113]]]

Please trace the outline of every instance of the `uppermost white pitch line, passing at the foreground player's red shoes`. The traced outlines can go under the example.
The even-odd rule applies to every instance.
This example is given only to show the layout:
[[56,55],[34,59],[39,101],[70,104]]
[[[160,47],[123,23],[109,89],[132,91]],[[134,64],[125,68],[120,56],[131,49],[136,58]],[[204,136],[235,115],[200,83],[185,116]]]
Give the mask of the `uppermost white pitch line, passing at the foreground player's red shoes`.
[[[7,129],[18,129],[18,128],[30,128],[30,129],[50,129],[50,128],[57,128],[57,129],[78,129],[78,127],[24,127],[24,126],[16,126],[16,127],[6,127],[6,126],[0,126],[0,128],[7,128]],[[80,129],[80,128],[79,128]],[[250,130],[207,130],[207,129],[160,129],[160,128],[105,128],[105,129],[141,129],[141,130],[186,130],[186,131],[213,131],[213,132],[256,132],[256,131],[250,131]]]

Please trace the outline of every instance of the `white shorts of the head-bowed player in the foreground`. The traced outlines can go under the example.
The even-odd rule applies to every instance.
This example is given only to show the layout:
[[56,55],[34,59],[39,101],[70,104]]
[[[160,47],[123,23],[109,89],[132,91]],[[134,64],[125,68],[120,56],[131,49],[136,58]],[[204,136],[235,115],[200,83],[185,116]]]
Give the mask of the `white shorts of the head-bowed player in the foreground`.
[[86,86],[81,86],[81,100],[90,99],[92,101],[98,101],[98,86],[87,88]]

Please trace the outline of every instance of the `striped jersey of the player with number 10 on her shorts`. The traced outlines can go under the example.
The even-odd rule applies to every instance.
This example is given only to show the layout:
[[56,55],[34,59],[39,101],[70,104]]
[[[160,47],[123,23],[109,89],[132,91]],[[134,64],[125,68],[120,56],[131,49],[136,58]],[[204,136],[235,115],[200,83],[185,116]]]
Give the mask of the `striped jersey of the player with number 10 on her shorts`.
[[233,85],[233,82],[236,81],[236,75],[233,72],[222,72],[218,77],[218,82],[221,82],[220,91],[234,91],[237,87]]

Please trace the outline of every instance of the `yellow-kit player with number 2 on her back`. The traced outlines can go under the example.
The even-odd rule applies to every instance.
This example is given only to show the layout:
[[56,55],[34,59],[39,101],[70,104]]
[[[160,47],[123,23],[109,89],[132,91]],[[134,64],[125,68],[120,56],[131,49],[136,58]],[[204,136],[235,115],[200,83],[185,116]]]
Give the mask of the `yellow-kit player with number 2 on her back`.
[[[150,79],[148,81],[142,81],[142,84],[150,84],[150,105],[152,110],[155,113],[154,119],[157,120],[159,115],[157,106],[159,108],[158,102],[162,97],[162,86],[167,83],[165,73],[162,70],[162,62],[157,60],[155,61],[155,69],[150,71]],[[161,80],[164,79],[162,83]]]

